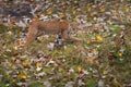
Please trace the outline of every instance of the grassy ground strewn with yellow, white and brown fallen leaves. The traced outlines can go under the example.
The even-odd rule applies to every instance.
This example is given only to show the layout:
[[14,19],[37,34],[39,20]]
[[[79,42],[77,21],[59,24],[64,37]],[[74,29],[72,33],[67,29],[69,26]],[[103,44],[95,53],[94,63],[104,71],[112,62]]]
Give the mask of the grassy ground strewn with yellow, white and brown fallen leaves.
[[26,33],[0,23],[0,87],[131,87],[130,0],[47,0],[45,7],[39,15],[88,23],[72,34],[84,41],[57,44],[56,35],[45,35],[25,50]]

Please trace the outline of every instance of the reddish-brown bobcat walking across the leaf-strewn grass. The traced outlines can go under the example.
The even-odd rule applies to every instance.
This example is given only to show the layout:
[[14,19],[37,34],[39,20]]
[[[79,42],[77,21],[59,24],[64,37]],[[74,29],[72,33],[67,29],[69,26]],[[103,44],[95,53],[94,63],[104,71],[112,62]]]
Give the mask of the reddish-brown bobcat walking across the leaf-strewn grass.
[[68,21],[35,21],[29,25],[25,46],[28,46],[35,38],[43,34],[58,34],[66,40],[81,41],[81,39],[69,35],[72,28],[76,29],[76,24]]

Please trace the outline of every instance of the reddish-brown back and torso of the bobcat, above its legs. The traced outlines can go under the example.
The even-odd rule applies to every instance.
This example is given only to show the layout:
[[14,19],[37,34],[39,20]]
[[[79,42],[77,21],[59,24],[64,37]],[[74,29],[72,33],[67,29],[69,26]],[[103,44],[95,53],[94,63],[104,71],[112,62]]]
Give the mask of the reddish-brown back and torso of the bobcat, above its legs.
[[48,34],[58,34],[69,28],[69,22],[67,21],[47,21],[47,22],[37,21],[37,22],[34,22],[31,26],[33,28],[35,27],[38,30],[45,32]]

